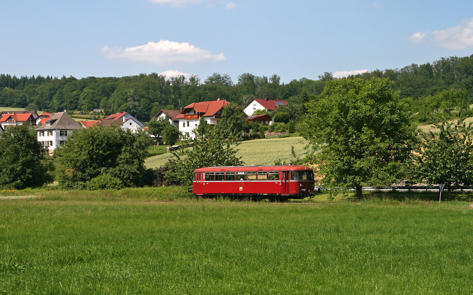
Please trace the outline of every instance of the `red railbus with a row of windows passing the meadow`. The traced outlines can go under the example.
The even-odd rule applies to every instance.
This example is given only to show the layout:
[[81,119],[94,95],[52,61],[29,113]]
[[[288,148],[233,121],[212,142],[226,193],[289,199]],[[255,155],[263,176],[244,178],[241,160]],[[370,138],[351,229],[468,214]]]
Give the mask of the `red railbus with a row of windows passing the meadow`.
[[193,173],[196,196],[274,196],[303,198],[313,195],[313,171],[297,165],[205,167]]

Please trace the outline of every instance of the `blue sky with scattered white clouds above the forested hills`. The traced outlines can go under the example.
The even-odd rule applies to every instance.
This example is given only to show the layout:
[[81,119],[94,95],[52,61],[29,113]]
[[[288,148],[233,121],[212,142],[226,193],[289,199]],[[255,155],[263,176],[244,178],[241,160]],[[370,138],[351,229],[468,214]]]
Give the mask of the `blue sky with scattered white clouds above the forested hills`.
[[127,76],[401,68],[473,54],[473,2],[0,0],[0,73]]

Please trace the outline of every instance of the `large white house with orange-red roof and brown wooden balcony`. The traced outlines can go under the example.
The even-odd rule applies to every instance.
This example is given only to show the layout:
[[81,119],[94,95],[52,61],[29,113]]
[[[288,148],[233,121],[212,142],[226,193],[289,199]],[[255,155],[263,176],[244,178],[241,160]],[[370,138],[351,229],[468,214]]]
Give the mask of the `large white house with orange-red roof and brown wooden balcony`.
[[194,129],[199,126],[200,118],[204,118],[208,124],[215,125],[221,120],[223,108],[228,104],[229,102],[218,99],[211,102],[193,103],[184,107],[175,118],[179,120],[179,131],[183,134],[188,133],[194,138]]

